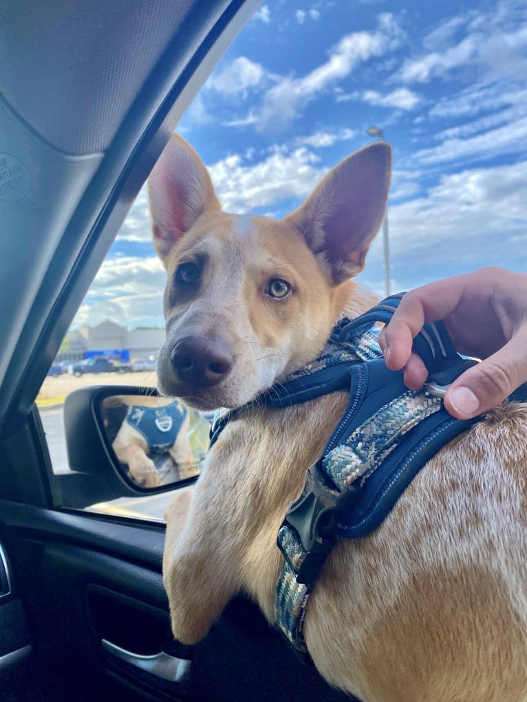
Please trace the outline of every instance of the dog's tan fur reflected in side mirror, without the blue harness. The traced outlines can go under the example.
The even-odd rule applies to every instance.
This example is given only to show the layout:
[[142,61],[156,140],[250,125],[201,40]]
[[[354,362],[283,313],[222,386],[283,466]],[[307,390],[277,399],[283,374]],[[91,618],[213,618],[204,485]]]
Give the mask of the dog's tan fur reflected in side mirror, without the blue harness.
[[[126,406],[134,406],[141,404],[145,407],[163,407],[174,402],[173,398],[156,397],[154,395],[141,395],[141,397],[119,395],[112,396],[103,401],[105,406],[116,406],[124,404]],[[179,431],[176,441],[168,450],[169,456],[176,464],[176,470],[170,470],[163,474],[155,467],[154,461],[148,458],[148,442],[145,437],[132,427],[126,420],[117,432],[115,439],[112,442],[112,449],[119,459],[120,463],[128,466],[130,477],[143,487],[157,487],[162,484],[169,484],[176,480],[195,475],[194,459],[190,451],[190,442],[188,440],[188,428],[190,418],[187,415],[181,430]]]

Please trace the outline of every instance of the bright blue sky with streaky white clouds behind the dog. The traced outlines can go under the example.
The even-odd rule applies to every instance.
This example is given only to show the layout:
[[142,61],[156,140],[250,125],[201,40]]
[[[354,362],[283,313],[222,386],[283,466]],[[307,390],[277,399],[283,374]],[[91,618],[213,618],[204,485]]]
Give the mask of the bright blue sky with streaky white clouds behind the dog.
[[[282,218],[372,141],[393,147],[391,291],[527,272],[527,4],[268,0],[177,131],[226,211]],[[141,190],[77,313],[162,326],[165,274]],[[358,280],[384,294],[382,236]]]

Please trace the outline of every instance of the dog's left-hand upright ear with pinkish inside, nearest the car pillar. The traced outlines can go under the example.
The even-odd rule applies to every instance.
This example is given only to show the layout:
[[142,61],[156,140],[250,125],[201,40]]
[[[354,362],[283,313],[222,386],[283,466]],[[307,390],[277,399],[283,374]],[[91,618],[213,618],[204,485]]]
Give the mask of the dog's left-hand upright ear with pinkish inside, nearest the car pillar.
[[204,211],[221,209],[207,168],[177,134],[150,173],[148,199],[154,246],[162,261]]

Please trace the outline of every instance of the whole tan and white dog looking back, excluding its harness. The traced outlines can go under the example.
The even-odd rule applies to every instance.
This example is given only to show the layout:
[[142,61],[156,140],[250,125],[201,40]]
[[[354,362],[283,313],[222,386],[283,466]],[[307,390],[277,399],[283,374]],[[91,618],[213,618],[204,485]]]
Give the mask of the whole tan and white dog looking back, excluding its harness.
[[[202,161],[173,135],[149,178],[167,271],[164,395],[243,406],[315,359],[334,324],[377,303],[353,277],[386,207],[391,150],[335,166],[280,221],[224,213]],[[348,393],[241,411],[193,493],[167,510],[174,637],[195,644],[237,592],[274,622],[289,503]],[[363,702],[527,700],[527,406],[509,404],[444,446],[384,522],[332,549],[308,602],[308,653]]]

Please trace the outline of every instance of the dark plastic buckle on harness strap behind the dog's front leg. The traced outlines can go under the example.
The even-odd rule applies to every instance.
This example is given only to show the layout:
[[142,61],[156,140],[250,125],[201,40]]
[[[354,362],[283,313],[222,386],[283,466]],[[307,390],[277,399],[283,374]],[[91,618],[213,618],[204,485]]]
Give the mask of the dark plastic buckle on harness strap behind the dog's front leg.
[[[353,486],[349,489],[355,490]],[[342,511],[342,506],[338,504],[341,496],[334,486],[330,486],[317,463],[308,468],[301,494],[289,506],[282,522],[282,527],[294,530],[305,554],[301,559],[293,559],[280,539],[277,542],[298,583],[310,585],[316,580],[327,554],[334,546],[335,527]],[[347,502],[349,496],[346,497]]]

